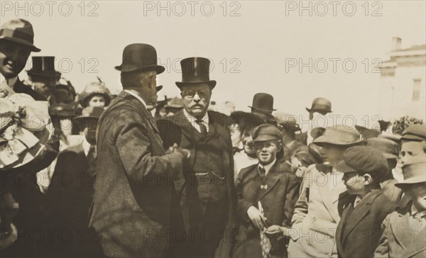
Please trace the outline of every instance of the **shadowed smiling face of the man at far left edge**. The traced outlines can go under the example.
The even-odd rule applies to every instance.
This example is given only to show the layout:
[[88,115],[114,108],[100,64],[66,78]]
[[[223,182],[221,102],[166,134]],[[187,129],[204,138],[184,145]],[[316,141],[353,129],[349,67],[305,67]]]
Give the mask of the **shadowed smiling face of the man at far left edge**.
[[11,43],[8,40],[1,40],[0,44],[0,72],[10,79],[18,76],[25,67],[31,50],[28,47]]

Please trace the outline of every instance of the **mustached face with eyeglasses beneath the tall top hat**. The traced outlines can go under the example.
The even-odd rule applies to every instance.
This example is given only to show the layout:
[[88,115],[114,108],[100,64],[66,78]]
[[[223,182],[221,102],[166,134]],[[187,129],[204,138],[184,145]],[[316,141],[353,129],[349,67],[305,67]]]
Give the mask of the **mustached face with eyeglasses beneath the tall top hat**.
[[195,118],[202,118],[209,107],[212,91],[208,84],[187,84],[182,86],[181,95],[186,111]]

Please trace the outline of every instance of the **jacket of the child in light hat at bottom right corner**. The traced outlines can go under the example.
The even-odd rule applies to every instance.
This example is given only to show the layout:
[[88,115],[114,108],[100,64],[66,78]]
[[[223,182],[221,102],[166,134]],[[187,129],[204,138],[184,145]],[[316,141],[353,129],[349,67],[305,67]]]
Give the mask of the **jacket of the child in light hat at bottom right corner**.
[[426,228],[416,236],[410,234],[411,202],[399,211],[389,214],[383,221],[383,235],[374,257],[426,257]]

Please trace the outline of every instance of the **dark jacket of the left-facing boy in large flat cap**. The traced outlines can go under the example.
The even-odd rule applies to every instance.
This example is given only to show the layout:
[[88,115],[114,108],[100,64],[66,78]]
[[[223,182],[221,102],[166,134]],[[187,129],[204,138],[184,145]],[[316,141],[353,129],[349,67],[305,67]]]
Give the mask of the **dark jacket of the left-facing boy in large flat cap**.
[[367,194],[354,208],[351,196],[337,225],[336,242],[339,257],[373,257],[382,235],[381,223],[396,205],[380,189]]

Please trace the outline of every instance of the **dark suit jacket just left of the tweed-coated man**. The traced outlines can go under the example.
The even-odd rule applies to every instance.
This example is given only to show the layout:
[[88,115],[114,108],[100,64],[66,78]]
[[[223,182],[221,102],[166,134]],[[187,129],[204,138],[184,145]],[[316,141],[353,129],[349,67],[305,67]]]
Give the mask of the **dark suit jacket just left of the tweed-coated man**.
[[[47,249],[54,257],[88,257],[97,247],[89,240],[88,215],[92,205],[96,162],[89,164],[83,144],[68,147],[58,156],[51,184],[46,195],[45,212],[48,228],[67,228],[72,232],[70,242],[53,237]],[[56,236],[57,232],[53,232]],[[84,237],[77,237],[83,235]]]

